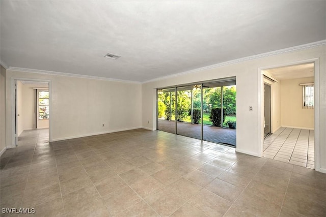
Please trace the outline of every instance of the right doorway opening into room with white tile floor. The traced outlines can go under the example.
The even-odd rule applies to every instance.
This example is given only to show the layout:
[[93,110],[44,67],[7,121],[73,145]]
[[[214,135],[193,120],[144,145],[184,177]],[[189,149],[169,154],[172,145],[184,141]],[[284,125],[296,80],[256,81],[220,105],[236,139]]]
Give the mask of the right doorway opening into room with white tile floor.
[[263,70],[263,157],[315,168],[314,63]]

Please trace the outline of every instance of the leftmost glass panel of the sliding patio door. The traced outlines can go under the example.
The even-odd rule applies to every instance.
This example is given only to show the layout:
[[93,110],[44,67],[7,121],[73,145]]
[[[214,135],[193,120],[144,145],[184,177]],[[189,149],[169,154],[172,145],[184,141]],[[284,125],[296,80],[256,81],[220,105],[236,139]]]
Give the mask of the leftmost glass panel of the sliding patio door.
[[175,88],[157,90],[157,130],[176,133]]

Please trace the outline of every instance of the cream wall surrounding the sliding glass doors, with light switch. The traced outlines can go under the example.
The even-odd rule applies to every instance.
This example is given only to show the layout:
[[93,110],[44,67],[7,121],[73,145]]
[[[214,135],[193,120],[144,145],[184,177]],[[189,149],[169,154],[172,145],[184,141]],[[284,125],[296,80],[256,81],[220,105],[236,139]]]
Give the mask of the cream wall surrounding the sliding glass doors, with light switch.
[[[156,92],[161,88],[184,83],[199,82],[236,76],[237,86],[237,151],[261,156],[262,149],[262,84],[261,70],[274,68],[280,65],[292,65],[298,61],[319,59],[319,74],[316,78],[320,82],[320,99],[326,99],[326,70],[325,70],[325,45],[309,49],[300,49],[291,52],[279,52],[271,56],[242,61],[214,69],[201,70],[193,73],[180,74],[174,77],[162,78],[157,81],[144,83],[142,86],[142,125],[147,129],[156,129]],[[260,83],[261,82],[261,83]],[[254,110],[249,111],[249,106]],[[321,100],[319,118],[326,120],[326,101]],[[318,111],[317,110],[317,111]],[[149,123],[148,123],[149,121]],[[316,163],[316,170],[326,172],[326,121],[320,121],[320,141],[316,149],[320,150],[320,162]]]

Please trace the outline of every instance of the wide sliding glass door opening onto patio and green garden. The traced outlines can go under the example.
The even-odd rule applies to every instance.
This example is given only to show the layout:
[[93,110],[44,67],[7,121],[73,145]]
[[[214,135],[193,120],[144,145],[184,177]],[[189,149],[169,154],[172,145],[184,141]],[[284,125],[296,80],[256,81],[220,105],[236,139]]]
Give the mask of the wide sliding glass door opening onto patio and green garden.
[[235,77],[157,88],[157,130],[236,146]]

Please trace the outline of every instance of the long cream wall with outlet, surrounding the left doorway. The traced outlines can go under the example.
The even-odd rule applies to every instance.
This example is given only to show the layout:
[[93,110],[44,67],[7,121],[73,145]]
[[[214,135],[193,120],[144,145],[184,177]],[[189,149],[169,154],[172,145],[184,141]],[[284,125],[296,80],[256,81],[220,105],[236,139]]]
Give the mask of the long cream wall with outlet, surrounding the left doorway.
[[7,70],[7,147],[13,144],[10,101],[13,79],[50,81],[50,141],[141,128],[140,83]]

